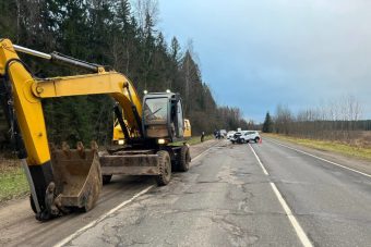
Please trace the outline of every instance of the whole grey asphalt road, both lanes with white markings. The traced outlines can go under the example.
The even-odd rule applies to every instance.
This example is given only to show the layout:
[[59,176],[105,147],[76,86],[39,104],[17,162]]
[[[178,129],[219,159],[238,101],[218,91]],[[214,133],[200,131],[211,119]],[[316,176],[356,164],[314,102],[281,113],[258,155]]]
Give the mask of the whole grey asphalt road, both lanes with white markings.
[[[304,151],[274,140],[223,140],[194,159],[188,173],[175,174],[168,186],[118,180],[92,212],[33,222],[34,231],[27,223],[19,234],[22,240],[7,243],[1,235],[0,245],[370,246],[371,177],[366,173],[371,166]],[[113,210],[107,212],[104,206],[112,198]],[[5,233],[16,230],[22,231],[20,222]]]

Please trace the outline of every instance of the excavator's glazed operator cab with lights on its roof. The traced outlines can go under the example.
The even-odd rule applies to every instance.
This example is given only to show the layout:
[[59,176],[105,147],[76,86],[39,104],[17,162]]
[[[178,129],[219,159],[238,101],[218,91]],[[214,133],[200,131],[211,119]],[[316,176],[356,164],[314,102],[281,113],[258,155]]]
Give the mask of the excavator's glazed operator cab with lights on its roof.
[[152,92],[143,98],[143,133],[158,144],[184,138],[184,118],[181,98],[173,92]]

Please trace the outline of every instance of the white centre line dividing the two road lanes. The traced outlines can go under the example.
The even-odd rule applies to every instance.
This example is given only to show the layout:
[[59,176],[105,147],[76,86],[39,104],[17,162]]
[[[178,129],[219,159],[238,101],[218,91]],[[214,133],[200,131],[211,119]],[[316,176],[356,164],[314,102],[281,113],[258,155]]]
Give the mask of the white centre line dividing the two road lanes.
[[[260,166],[262,168],[264,174],[268,176],[270,174],[267,173],[267,171],[266,171],[266,169],[264,168],[262,161],[261,161],[260,158],[258,157],[255,150],[251,147],[250,144],[249,144],[249,146],[250,146],[250,148],[251,148],[251,151],[254,153],[254,156],[255,156],[255,158],[256,158],[256,160],[258,160]],[[283,209],[285,210],[285,213],[286,213],[288,220],[290,221],[290,223],[291,223],[291,225],[292,225],[295,232],[297,233],[297,235],[298,235],[298,237],[299,237],[299,239],[300,239],[302,246],[304,246],[304,247],[313,247],[313,245],[312,245],[312,243],[309,240],[309,238],[308,238],[306,232],[302,230],[302,227],[300,226],[299,222],[297,221],[297,219],[296,219],[295,215],[292,214],[291,209],[288,207],[288,205],[286,203],[284,197],[283,197],[282,194],[279,193],[277,186],[276,186],[273,182],[271,182],[270,184],[271,184],[271,187],[272,187],[274,194],[276,195],[276,197],[277,197],[277,199],[278,199],[280,206],[282,206]]]

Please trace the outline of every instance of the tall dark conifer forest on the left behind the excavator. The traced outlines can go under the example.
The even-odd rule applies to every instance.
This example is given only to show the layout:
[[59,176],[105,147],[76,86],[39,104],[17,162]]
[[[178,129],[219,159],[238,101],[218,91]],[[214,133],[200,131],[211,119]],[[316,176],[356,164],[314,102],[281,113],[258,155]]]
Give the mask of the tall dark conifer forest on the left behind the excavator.
[[[182,48],[176,37],[167,44],[156,26],[159,16],[154,0],[0,0],[0,10],[2,38],[109,65],[125,74],[141,96],[144,89],[180,92],[195,135],[247,126],[239,109],[217,106],[202,79],[192,46]],[[22,59],[38,77],[86,73]],[[95,139],[109,144],[112,106],[107,96],[45,100],[50,141]]]

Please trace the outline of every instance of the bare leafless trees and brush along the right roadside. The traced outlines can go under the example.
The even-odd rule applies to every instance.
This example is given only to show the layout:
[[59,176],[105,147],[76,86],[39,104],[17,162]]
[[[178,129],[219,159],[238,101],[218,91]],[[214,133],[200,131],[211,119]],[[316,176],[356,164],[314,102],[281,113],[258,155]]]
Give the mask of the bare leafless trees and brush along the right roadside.
[[278,104],[274,115],[266,113],[262,129],[301,138],[339,140],[371,145],[371,120],[362,120],[362,108],[354,96],[323,103],[294,113],[288,106]]

